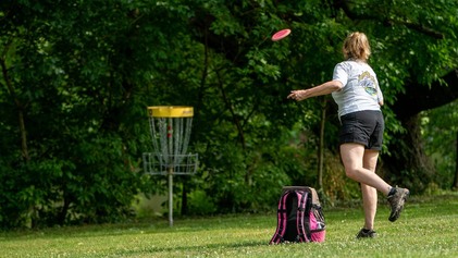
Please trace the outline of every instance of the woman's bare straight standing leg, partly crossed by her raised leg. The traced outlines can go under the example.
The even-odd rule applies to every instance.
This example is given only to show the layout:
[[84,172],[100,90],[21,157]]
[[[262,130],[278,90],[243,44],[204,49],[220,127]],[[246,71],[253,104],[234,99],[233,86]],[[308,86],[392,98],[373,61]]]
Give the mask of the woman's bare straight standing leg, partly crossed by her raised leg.
[[[379,158],[377,150],[364,150],[363,168],[375,173],[376,162]],[[364,229],[373,230],[377,205],[377,193],[372,186],[361,183],[362,207],[364,210]]]

